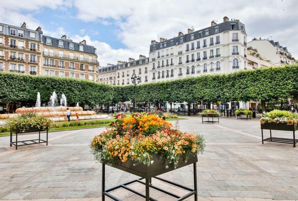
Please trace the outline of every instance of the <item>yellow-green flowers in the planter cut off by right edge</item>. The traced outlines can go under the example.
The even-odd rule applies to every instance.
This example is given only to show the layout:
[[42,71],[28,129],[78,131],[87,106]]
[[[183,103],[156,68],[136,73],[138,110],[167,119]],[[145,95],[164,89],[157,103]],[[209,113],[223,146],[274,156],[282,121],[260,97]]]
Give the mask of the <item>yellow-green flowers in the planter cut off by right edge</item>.
[[264,112],[260,119],[261,124],[268,123],[284,123],[287,125],[294,125],[298,123],[298,115],[290,111],[272,110],[271,112]]

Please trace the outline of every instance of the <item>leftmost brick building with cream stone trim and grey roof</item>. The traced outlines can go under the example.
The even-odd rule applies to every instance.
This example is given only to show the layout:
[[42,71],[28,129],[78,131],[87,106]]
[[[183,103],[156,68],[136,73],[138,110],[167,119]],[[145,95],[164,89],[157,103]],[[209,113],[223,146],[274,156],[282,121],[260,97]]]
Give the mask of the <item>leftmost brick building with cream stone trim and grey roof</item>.
[[0,70],[41,74],[41,27],[36,30],[0,23]]

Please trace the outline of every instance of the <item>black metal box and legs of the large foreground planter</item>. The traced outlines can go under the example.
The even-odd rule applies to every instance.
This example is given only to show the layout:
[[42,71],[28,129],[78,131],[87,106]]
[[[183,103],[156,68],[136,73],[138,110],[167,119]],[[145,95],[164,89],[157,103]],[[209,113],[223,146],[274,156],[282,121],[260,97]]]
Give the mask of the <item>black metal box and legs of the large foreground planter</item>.
[[[131,160],[128,160],[124,163],[119,163],[119,164],[114,165],[113,166],[114,168],[120,169],[120,170],[128,172],[130,174],[137,175],[141,178],[130,181],[130,182],[127,182],[127,183],[124,183],[124,184],[117,185],[113,188],[109,188],[109,189],[106,189],[106,190],[105,190],[105,164],[107,164],[107,162],[103,162],[103,166],[102,166],[102,168],[103,168],[103,170],[102,170],[102,201],[105,200],[105,196],[111,198],[112,200],[121,201],[119,198],[114,197],[112,194],[109,193],[110,191],[114,191],[118,188],[124,188],[128,191],[131,191],[131,192],[135,193],[136,195],[139,195],[139,196],[145,198],[146,201],[149,201],[149,200],[157,201],[156,199],[150,197],[149,188],[153,188],[153,189],[158,190],[162,193],[165,193],[169,196],[175,197],[175,198],[177,198],[177,200],[184,200],[184,199],[186,199],[186,198],[188,198],[192,195],[195,195],[195,201],[197,201],[197,197],[198,197],[197,196],[197,172],[196,172],[196,162],[198,162],[197,156],[190,155],[187,162],[184,162],[184,160],[181,157],[180,160],[179,160],[179,164],[177,166],[177,168],[181,168],[181,167],[184,167],[186,165],[193,164],[194,189],[188,188],[186,186],[183,186],[183,185],[171,182],[171,181],[168,181],[166,179],[162,179],[160,177],[157,177],[158,175],[170,172],[170,171],[174,170],[175,168],[174,168],[173,165],[170,165],[168,168],[166,168],[166,166],[164,165],[164,161],[162,159],[160,159],[159,156],[156,155],[156,154],[152,154],[152,160],[154,162],[149,167],[147,165],[144,165],[144,164],[137,164],[137,165],[134,166],[134,162],[131,161]],[[176,195],[175,193],[172,193],[172,192],[169,192],[169,191],[164,190],[162,188],[159,188],[157,186],[154,186],[152,184],[151,178],[159,179],[162,182],[177,186],[179,188],[183,188],[183,189],[185,189],[187,191],[190,191],[190,192],[181,197],[179,195]],[[142,179],[145,179],[145,182],[141,181]],[[140,193],[139,191],[136,191],[136,190],[130,188],[128,186],[128,185],[130,185],[132,183],[135,183],[135,182],[139,182],[139,183],[145,185],[145,187],[146,187],[145,188],[146,189],[145,190],[145,192],[146,192],[145,195]]]

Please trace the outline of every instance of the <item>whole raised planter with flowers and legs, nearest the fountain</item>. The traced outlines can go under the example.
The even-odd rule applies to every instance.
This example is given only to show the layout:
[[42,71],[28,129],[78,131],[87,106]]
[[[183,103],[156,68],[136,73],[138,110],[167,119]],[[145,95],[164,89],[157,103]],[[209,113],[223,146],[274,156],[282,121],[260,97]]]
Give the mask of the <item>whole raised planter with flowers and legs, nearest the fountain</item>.
[[[7,119],[6,127],[10,131],[10,146],[18,146],[46,143],[48,145],[48,130],[53,127],[53,121],[36,113],[24,113],[16,118]],[[46,131],[46,140],[40,139],[40,132]],[[18,134],[38,132],[39,138],[32,140],[18,141]],[[15,142],[13,142],[13,134],[15,134]],[[21,143],[21,144],[20,144]]]

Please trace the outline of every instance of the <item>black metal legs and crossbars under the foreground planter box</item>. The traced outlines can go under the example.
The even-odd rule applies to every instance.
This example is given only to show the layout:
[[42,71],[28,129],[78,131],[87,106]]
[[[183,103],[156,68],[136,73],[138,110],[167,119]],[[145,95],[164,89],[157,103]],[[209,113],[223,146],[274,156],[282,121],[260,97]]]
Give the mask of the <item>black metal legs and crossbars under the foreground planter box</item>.
[[[128,191],[131,191],[132,193],[136,194],[136,195],[139,195],[140,197],[143,197],[146,199],[146,201],[158,201],[152,197],[150,197],[150,194],[149,194],[149,188],[153,188],[155,190],[158,190],[162,193],[165,193],[169,196],[172,196],[172,197],[175,197],[177,200],[176,201],[180,201],[180,200],[185,200],[187,199],[188,197],[194,195],[195,196],[195,201],[198,200],[198,191],[197,191],[197,168],[196,168],[196,162],[193,163],[193,179],[194,179],[194,189],[191,189],[191,188],[188,188],[186,186],[183,186],[183,185],[180,185],[180,184],[177,184],[175,182],[171,182],[169,180],[166,180],[166,179],[163,179],[163,178],[160,178],[160,177],[153,177],[154,179],[158,179],[162,182],[165,182],[165,183],[168,183],[170,185],[174,185],[176,187],[179,187],[179,188],[183,188],[184,190],[187,190],[187,191],[190,191],[188,194],[184,195],[184,196],[179,196],[179,195],[176,195],[172,192],[169,192],[167,190],[164,190],[162,188],[159,188],[157,186],[154,186],[152,185],[152,179],[151,178],[145,178],[145,182],[144,181],[141,181],[142,179],[144,178],[140,178],[140,179],[136,179],[136,180],[133,180],[133,181],[130,181],[130,182],[126,182],[124,184],[120,184],[120,185],[117,185],[117,186],[114,186],[112,188],[109,188],[109,189],[106,189],[105,190],[105,164],[102,163],[102,201],[105,201],[105,196],[109,197],[110,199],[112,200],[115,200],[115,201],[122,201],[120,200],[119,198],[113,196],[112,194],[110,194],[109,192],[110,191],[114,191],[118,188],[124,188]],[[130,184],[132,183],[135,183],[135,182],[138,182],[138,183],[141,183],[141,184],[144,184],[145,185],[145,195],[140,193],[139,191],[136,191],[132,188],[129,187]]]

